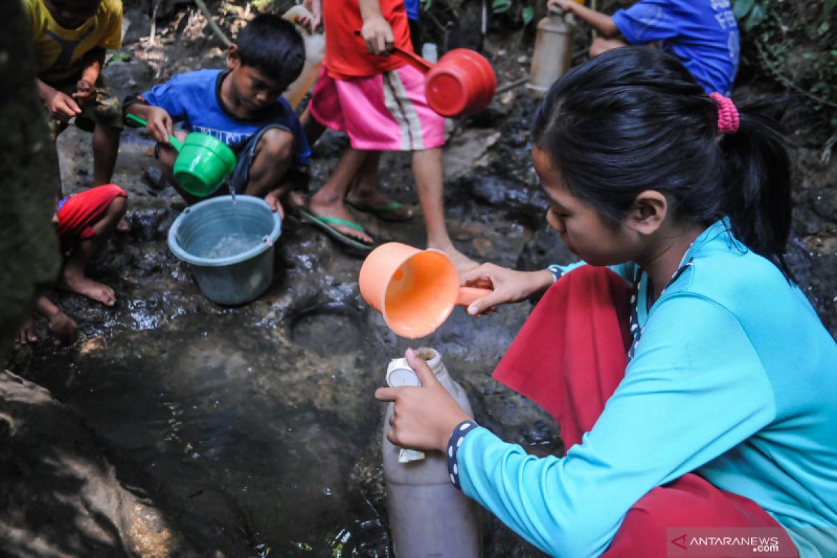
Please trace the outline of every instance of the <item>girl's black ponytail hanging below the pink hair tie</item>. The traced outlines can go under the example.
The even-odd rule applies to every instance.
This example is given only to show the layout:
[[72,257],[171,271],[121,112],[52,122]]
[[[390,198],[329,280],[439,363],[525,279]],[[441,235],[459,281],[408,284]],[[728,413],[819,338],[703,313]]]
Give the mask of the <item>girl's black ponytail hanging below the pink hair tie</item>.
[[790,157],[775,120],[759,107],[739,115],[738,131],[721,137],[723,208],[732,233],[790,276],[784,259],[791,226]]

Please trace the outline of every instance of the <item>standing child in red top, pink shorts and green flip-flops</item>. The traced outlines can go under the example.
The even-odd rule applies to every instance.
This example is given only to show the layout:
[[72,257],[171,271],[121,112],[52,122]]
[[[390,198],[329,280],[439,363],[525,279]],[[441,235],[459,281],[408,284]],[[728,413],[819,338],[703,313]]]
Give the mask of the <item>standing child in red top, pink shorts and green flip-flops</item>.
[[[428,248],[447,253],[460,271],[475,263],[454,248],[444,223],[444,118],[424,98],[424,75],[394,47],[412,50],[403,0],[323,0],[326,58],[309,111],[321,125],[346,132],[345,151],[326,184],[302,210],[332,237],[368,251],[373,240],[344,205],[348,187],[374,151],[413,151],[413,177]],[[314,6],[315,16],[318,6]]]

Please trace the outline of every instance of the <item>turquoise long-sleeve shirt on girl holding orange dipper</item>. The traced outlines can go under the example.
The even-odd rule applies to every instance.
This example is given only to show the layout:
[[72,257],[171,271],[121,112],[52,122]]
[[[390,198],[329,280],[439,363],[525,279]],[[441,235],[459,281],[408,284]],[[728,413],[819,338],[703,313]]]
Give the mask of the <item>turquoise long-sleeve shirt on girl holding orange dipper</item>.
[[634,357],[582,443],[535,458],[475,428],[463,491],[548,554],[595,556],[644,494],[694,472],[760,504],[801,556],[837,556],[837,344],[726,220],[684,262],[648,311],[640,280]]

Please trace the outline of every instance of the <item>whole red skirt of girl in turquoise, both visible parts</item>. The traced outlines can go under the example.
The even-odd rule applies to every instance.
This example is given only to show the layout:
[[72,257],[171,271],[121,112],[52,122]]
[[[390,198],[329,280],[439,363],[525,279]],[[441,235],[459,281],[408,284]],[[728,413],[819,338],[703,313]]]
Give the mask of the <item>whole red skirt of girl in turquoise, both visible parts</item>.
[[[581,443],[624,378],[629,297],[628,284],[609,269],[574,269],[547,290],[494,371],[497,381],[555,417],[567,449]],[[773,536],[779,546],[770,555],[798,555],[787,531],[760,505],[690,473],[639,499],[602,556],[708,555],[706,547],[690,546],[701,535]],[[749,555],[747,548],[736,550]]]

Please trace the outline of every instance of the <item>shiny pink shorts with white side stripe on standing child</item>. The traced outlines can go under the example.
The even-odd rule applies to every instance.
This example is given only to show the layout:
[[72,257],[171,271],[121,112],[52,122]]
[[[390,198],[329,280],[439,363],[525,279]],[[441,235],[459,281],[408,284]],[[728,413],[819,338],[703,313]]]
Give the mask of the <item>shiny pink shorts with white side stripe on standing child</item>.
[[424,74],[412,66],[355,79],[334,79],[324,67],[309,108],[322,125],[346,132],[355,149],[416,151],[444,146],[444,118],[430,110],[424,98]]

